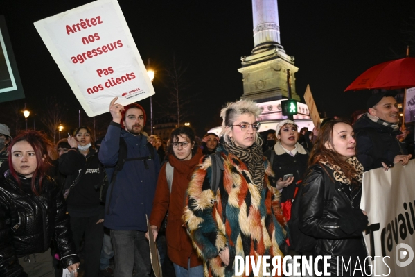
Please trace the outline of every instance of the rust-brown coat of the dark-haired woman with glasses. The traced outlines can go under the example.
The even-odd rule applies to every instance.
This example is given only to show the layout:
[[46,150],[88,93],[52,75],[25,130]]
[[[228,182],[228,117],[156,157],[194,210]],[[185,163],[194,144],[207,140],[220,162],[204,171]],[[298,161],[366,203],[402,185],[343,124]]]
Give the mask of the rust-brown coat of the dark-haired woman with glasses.
[[178,160],[169,155],[168,161],[174,167],[172,193],[168,190],[166,178],[166,165],[160,169],[157,181],[156,194],[154,196],[150,224],[160,229],[161,223],[168,210],[166,240],[168,258],[175,264],[187,269],[188,258],[191,259],[191,267],[202,265],[202,260],[197,257],[193,249],[192,241],[183,226],[182,215],[185,205],[185,195],[188,183],[191,181],[193,171],[202,157],[202,149],[190,160]]

